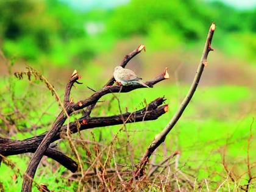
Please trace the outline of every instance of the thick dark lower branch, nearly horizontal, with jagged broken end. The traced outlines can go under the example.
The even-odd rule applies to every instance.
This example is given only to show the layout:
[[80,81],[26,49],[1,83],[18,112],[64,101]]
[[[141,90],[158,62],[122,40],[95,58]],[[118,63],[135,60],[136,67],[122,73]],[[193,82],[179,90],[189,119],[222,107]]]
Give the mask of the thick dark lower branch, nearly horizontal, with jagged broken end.
[[[140,121],[151,121],[165,114],[168,110],[168,105],[162,105],[165,99],[157,98],[149,105],[137,112],[123,113],[122,115],[113,115],[105,117],[86,117],[80,118],[76,122],[69,124],[71,133],[77,133],[79,130],[92,129],[94,127],[106,127],[123,124],[123,119],[129,118],[127,123],[134,123]],[[162,105],[162,106],[160,106]],[[47,133],[47,132],[46,132]],[[46,133],[28,138],[26,140],[9,140],[6,138],[0,138],[0,154],[9,156],[23,154],[26,152],[34,152],[38,148]],[[51,143],[59,140],[62,137],[62,133],[66,133],[66,126],[63,126],[61,130],[52,138]],[[44,154],[46,155],[46,154]],[[49,157],[49,156],[48,156]]]

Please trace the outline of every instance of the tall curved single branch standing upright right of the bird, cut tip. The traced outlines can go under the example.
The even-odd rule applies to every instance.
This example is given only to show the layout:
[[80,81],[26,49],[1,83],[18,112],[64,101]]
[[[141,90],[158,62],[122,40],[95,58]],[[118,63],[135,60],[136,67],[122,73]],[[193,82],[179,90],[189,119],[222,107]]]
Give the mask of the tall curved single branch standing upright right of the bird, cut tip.
[[162,130],[158,135],[155,135],[154,141],[149,145],[148,149],[146,150],[145,154],[140,160],[140,166],[138,166],[138,169],[136,171],[135,176],[138,178],[140,176],[143,176],[144,174],[144,168],[145,165],[148,163],[149,157],[151,157],[152,153],[155,151],[155,149],[160,146],[160,144],[165,141],[166,135],[171,131],[172,127],[175,126],[177,121],[179,120],[180,116],[182,116],[182,113],[184,112],[185,108],[187,107],[188,103],[190,102],[191,98],[193,97],[194,92],[196,91],[197,85],[199,84],[199,80],[201,78],[202,72],[204,71],[204,66],[207,65],[207,56],[210,51],[213,51],[211,47],[213,34],[215,32],[215,23],[212,23],[210,26],[210,29],[208,31],[207,40],[205,42],[204,51],[202,54],[201,61],[199,63],[199,66],[196,71],[196,76],[194,77],[193,83],[190,87],[190,90],[187,93],[187,96],[182,101],[182,104],[180,104],[179,109],[175,113],[175,115],[172,117],[171,121],[167,124],[165,129]]

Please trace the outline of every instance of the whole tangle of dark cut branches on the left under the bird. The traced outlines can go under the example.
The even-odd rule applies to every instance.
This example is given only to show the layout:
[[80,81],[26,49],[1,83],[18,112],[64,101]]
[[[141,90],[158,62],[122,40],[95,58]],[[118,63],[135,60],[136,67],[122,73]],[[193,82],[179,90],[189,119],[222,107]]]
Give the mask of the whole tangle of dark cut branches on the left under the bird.
[[[144,45],[140,45],[137,49],[135,49],[130,54],[124,57],[121,66],[126,66],[130,59],[135,57],[138,53],[140,53],[143,49],[145,49]],[[69,143],[72,143],[72,139],[70,137],[70,133],[76,133],[79,130],[83,129],[90,129],[94,127],[102,127],[102,126],[112,126],[115,124],[123,124],[124,119],[126,123],[134,123],[137,121],[149,121],[152,119],[157,119],[159,116],[163,115],[168,110],[168,105],[162,105],[165,99],[158,98],[155,101],[151,102],[148,106],[143,108],[142,110],[138,110],[137,112],[133,113],[124,113],[121,115],[114,115],[108,117],[101,117],[101,118],[91,118],[90,113],[93,109],[94,105],[98,102],[98,100],[108,93],[127,93],[129,91],[135,90],[137,88],[144,88],[143,85],[129,85],[129,86],[110,86],[113,85],[114,78],[112,77],[105,87],[101,88],[101,90],[96,91],[87,99],[82,101],[73,102],[73,98],[70,98],[71,89],[74,83],[79,84],[77,80],[80,78],[78,76],[77,71],[75,70],[73,75],[66,84],[65,94],[64,94],[64,101],[60,101],[60,97],[58,96],[57,92],[55,91],[54,87],[49,83],[49,81],[43,77],[40,73],[38,73],[35,69],[27,68],[27,72],[15,73],[15,76],[19,79],[23,79],[23,76],[26,75],[29,80],[30,77],[33,75],[35,79],[40,79],[42,82],[46,84],[48,89],[51,91],[52,95],[55,96],[57,102],[62,107],[62,111],[59,113],[59,116],[55,119],[54,123],[49,129],[48,132],[41,134],[34,138],[29,138],[23,141],[17,140],[8,140],[6,138],[0,138],[0,154],[1,155],[15,155],[21,154],[25,152],[34,152],[32,159],[27,166],[26,173],[24,174],[23,180],[23,187],[22,191],[30,192],[32,190],[32,182],[35,176],[35,172],[37,167],[41,161],[43,155],[47,155],[52,159],[56,160],[57,162],[61,163],[63,166],[68,168],[71,171],[77,171],[77,163],[74,162],[71,158],[67,157],[66,155],[62,154],[62,152],[56,151],[54,149],[49,148],[49,145],[54,142],[55,140],[59,140],[61,137],[68,137]],[[158,75],[152,80],[146,82],[149,87],[153,87],[158,82],[168,79],[169,74],[167,72],[167,68],[163,73]],[[91,105],[91,106],[90,106]],[[160,106],[162,105],[162,106]],[[90,107],[88,107],[90,106]],[[82,108],[87,108],[87,116],[78,119],[72,123],[69,123],[69,115],[71,113],[76,112]],[[63,126],[65,121],[68,121],[66,126]],[[62,133],[65,133],[63,136]],[[76,149],[73,145],[73,149]],[[79,154],[76,153],[77,157]],[[79,158],[78,158],[79,160]],[[82,165],[81,161],[79,161],[79,166]],[[80,166],[82,173],[82,166]],[[107,187],[107,185],[105,185]]]

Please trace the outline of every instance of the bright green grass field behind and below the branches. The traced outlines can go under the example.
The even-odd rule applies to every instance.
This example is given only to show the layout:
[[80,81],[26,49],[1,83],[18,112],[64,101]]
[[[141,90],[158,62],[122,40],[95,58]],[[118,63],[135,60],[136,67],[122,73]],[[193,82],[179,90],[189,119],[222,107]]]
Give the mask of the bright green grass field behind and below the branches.
[[[138,162],[149,143],[154,139],[154,136],[166,126],[179,107],[179,103],[187,93],[188,88],[187,86],[158,85],[154,89],[145,88],[130,93],[116,93],[121,102],[123,112],[125,107],[128,108],[129,112],[143,108],[145,105],[144,99],[149,103],[163,95],[167,99],[166,103],[169,104],[169,112],[156,121],[127,124],[130,142],[133,146],[134,162]],[[244,160],[246,159],[247,137],[249,136],[252,117],[255,116],[255,112],[250,110],[250,106],[255,101],[255,95],[252,93],[253,91],[246,87],[229,85],[220,87],[199,86],[183,116],[166,137],[167,155],[179,150],[181,153],[180,169],[184,172],[190,172],[190,169],[198,169],[199,171],[194,175],[197,180],[207,179],[210,187],[216,188],[218,185],[215,182],[223,181],[227,176],[221,165],[221,154],[224,146],[226,146],[227,164],[236,167],[236,174],[242,174],[246,171]],[[109,94],[101,100],[109,101],[112,97],[112,94]],[[49,101],[52,100],[49,99]],[[94,111],[94,115],[104,116],[119,113],[118,102],[115,99],[110,107],[107,106],[107,102],[103,102],[101,105],[102,107]],[[49,108],[49,113],[54,115],[57,114],[57,111],[57,105]],[[33,113],[36,116],[39,112]],[[52,116],[49,116],[42,121],[47,122],[53,119]],[[36,121],[37,119],[34,119],[34,122]],[[119,128],[120,126],[101,127],[91,131],[96,135],[96,140],[101,135],[101,142],[109,144],[112,138],[111,135],[115,135]],[[47,129],[46,127],[42,128],[37,133],[44,132]],[[255,124],[252,126],[252,133],[255,135]],[[90,138],[90,130],[84,130],[83,135],[85,138]],[[20,139],[29,136],[32,135],[29,133],[25,135],[17,134]],[[121,131],[118,138],[125,141],[126,133]],[[256,160],[254,147],[255,142],[252,142],[250,151],[252,162]],[[68,144],[64,141],[60,143],[60,148],[61,151],[70,153]],[[82,149],[79,149],[79,151],[84,154]],[[129,163],[122,158],[122,152],[119,155],[118,157],[117,152],[116,158],[119,163]],[[163,148],[160,146],[157,151],[156,161],[158,162],[163,158]],[[9,157],[9,159],[16,163],[21,172],[26,171],[28,157],[16,155]],[[66,180],[60,177],[65,168],[58,165],[56,169],[52,160],[47,162],[50,162],[49,166],[40,166],[38,168],[35,176],[36,182],[46,183],[49,188],[55,189],[55,191],[72,191],[76,183],[68,185]],[[21,177],[18,176],[17,180],[13,180],[13,174],[15,174],[15,171],[2,163],[0,180],[4,188],[8,189],[7,191],[18,191],[21,188]]]

